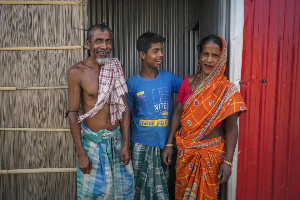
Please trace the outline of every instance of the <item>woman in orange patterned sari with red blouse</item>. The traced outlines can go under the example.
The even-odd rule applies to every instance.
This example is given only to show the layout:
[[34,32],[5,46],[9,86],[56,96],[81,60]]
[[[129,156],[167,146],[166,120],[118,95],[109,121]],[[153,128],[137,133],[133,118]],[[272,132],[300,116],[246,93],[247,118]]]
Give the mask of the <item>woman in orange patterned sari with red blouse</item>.
[[197,49],[197,74],[183,80],[163,160],[171,164],[176,138],[176,199],[211,200],[217,199],[219,184],[231,175],[237,118],[247,108],[237,87],[224,75],[226,41],[210,35]]

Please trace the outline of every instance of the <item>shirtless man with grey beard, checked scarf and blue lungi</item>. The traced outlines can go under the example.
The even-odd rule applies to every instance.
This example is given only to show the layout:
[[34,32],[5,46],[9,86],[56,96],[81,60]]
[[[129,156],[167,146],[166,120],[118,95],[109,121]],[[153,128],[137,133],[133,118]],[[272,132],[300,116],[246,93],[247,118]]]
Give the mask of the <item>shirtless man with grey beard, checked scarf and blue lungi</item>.
[[[127,86],[126,83],[117,85],[125,82],[124,67],[118,59],[109,57],[113,37],[107,25],[90,27],[86,46],[91,56],[73,65],[68,72],[68,117],[78,156],[78,199],[132,199],[129,112],[124,111],[129,111],[125,97]],[[110,84],[112,87],[106,87]],[[113,102],[118,95],[118,102]],[[103,103],[99,103],[99,98]],[[85,114],[78,118],[80,102]],[[112,108],[117,110],[111,112]]]

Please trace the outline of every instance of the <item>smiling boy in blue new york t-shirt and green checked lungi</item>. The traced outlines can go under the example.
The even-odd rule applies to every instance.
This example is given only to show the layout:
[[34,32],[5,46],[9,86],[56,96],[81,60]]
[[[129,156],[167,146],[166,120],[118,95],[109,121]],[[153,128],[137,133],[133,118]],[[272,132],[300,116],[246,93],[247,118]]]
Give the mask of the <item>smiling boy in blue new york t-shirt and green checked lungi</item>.
[[163,62],[165,40],[153,32],[138,38],[142,70],[127,81],[127,101],[133,116],[130,150],[134,199],[169,199],[169,168],[161,155],[170,132],[172,93],[179,92],[182,80],[174,73],[158,70]]

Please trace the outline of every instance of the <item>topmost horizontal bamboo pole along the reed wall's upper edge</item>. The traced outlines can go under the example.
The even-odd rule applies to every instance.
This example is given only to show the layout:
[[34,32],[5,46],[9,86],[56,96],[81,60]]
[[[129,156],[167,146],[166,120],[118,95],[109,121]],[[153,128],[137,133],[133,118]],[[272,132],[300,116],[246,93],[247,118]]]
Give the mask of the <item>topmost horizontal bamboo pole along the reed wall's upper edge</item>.
[[18,5],[80,5],[80,1],[0,1],[0,4]]

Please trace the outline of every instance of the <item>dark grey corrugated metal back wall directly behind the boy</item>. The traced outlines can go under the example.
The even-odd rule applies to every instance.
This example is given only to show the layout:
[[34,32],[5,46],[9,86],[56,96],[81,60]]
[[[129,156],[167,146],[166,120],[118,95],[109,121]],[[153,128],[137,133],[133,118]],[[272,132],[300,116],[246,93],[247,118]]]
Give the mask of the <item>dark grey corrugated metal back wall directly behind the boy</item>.
[[100,0],[88,1],[88,24],[105,22],[113,30],[112,57],[118,58],[129,78],[141,70],[136,49],[138,36],[152,31],[166,37],[162,69],[180,78],[193,74],[197,65],[197,30],[190,30],[189,13],[193,1]]

